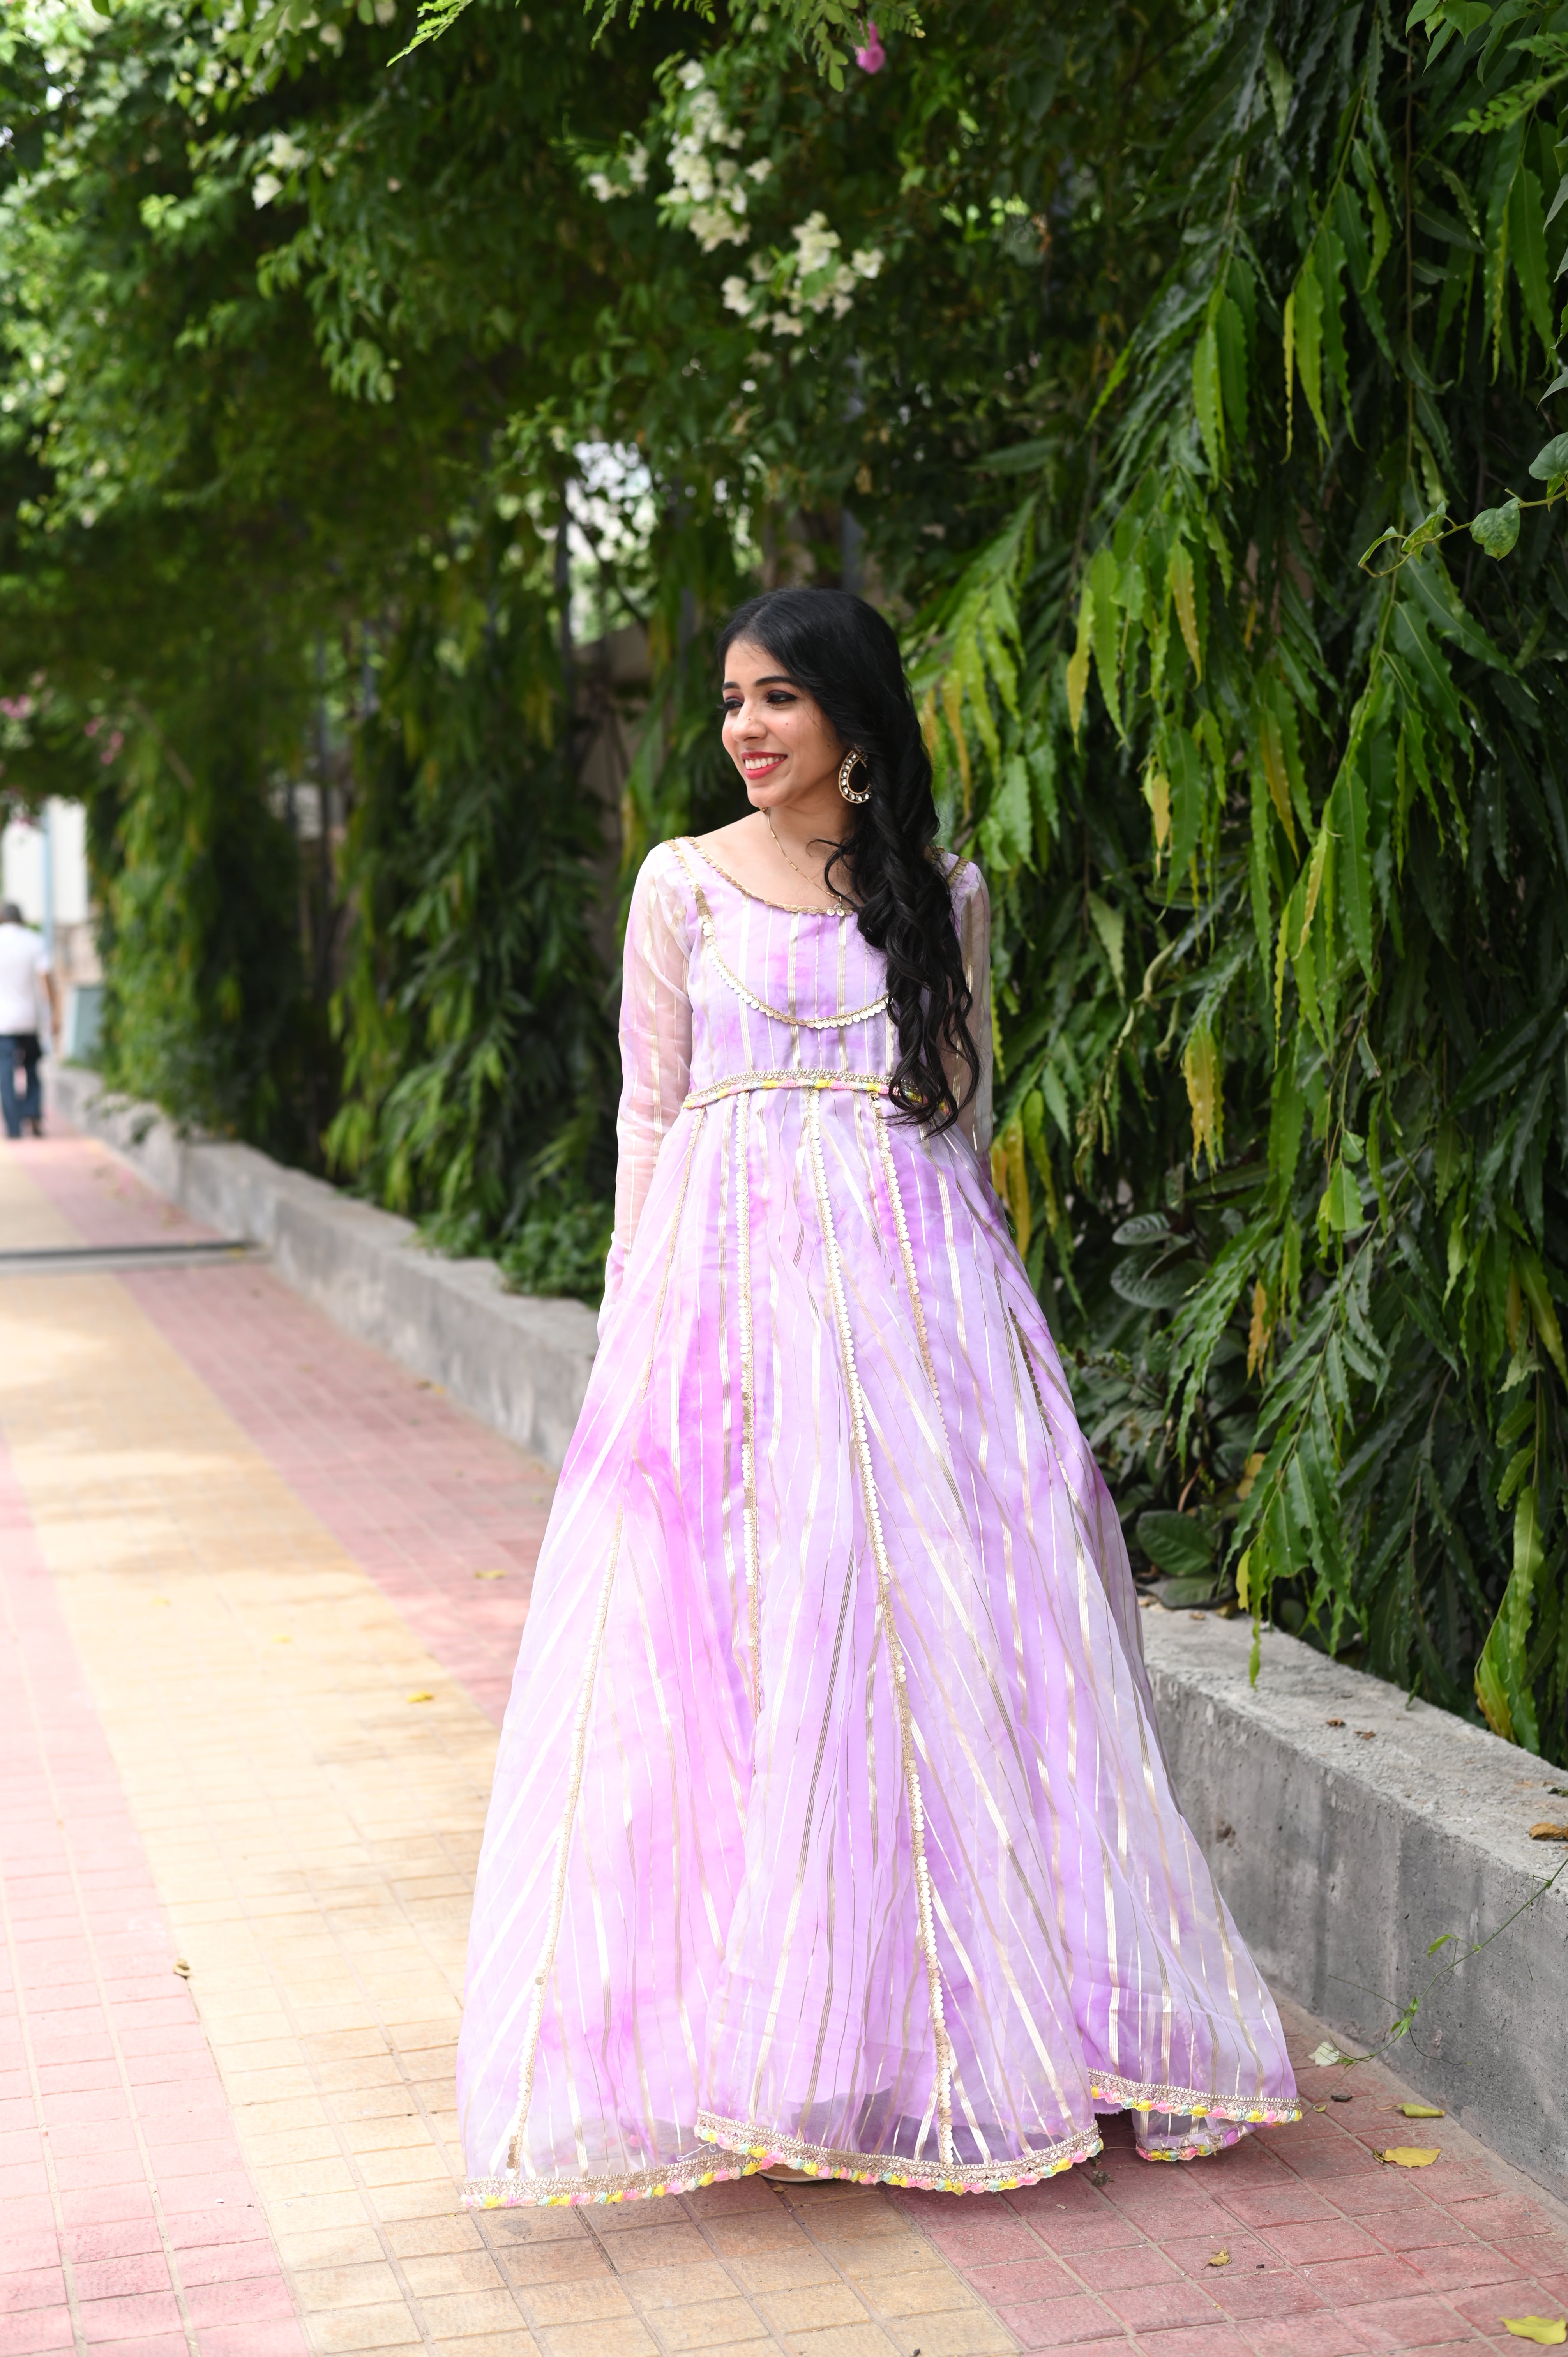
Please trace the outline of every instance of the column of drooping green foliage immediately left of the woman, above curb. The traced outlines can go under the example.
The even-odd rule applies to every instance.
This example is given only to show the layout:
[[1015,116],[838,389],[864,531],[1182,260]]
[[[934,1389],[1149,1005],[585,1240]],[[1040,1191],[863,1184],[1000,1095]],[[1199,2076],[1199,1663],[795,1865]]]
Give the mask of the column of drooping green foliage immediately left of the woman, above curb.
[[[410,596],[358,731],[344,1103],[325,1143],[448,1249],[531,1237],[526,1266],[566,1256],[580,1292],[578,1211],[604,1223],[613,1174],[615,1044],[587,931],[601,839],[554,740],[549,608],[507,587],[516,547],[495,514],[474,519],[462,559]],[[535,1204],[549,1237],[526,1226]]]

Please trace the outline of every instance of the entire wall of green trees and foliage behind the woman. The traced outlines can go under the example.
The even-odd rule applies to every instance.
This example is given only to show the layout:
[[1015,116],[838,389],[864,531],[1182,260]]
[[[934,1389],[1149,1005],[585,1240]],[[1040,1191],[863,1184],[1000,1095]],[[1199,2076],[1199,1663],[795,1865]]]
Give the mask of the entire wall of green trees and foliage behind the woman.
[[592,1299],[608,839],[733,813],[724,608],[861,587],[1141,1577],[1568,1758],[1568,14],[415,31],[0,31],[0,792],[90,799],[111,1077]]

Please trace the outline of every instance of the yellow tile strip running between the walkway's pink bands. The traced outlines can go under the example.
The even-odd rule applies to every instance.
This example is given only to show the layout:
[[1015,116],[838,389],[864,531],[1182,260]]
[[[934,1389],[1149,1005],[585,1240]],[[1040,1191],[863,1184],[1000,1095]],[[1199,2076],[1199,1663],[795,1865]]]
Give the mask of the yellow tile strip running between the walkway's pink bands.
[[[0,1240],[73,1240],[21,1157]],[[0,1431],[316,2350],[1019,2345],[875,2190],[465,2213],[493,1725],[116,1277],[0,1277]]]

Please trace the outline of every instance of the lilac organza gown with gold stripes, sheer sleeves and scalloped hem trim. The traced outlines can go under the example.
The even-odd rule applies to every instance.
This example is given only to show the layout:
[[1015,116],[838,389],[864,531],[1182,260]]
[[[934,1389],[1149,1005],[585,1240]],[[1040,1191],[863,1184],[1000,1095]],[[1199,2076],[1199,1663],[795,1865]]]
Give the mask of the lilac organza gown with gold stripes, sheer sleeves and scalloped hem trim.
[[[955,867],[988,1049],[988,903]],[[540,1551],[457,2058],[467,2199],[764,2161],[983,2192],[1294,2119],[1160,1754],[1120,1525],[884,964],[691,841],[632,896],[601,1348]]]

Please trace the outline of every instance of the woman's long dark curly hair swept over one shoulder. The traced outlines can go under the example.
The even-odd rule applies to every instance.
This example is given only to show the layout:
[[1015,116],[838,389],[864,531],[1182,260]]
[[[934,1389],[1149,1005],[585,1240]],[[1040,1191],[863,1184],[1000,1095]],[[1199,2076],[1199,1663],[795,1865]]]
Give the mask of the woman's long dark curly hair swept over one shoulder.
[[[719,632],[719,665],[736,639],[755,639],[780,672],[811,695],[844,750],[865,768],[854,785],[870,801],[851,811],[828,860],[844,872],[861,931],[887,955],[887,997],[898,1025],[891,1103],[927,1129],[950,1129],[974,1096],[981,1061],[969,1032],[974,992],[953,924],[953,896],[936,841],[931,759],[903,676],[898,639],[865,599],[844,589],[769,589],[731,613]],[[955,1098],[943,1049],[969,1077]]]

